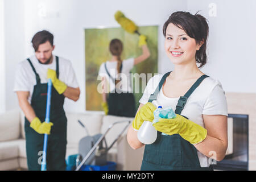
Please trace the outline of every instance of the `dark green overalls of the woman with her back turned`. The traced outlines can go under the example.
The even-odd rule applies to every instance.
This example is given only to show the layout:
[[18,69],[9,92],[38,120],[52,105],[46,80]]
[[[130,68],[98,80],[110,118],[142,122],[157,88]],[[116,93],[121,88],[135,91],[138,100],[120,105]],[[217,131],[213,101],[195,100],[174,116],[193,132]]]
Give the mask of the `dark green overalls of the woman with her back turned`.
[[[105,69],[108,73],[110,79],[113,80],[115,83],[115,78],[112,78],[106,68]],[[120,72],[122,72],[122,64],[120,67]],[[135,98],[133,93],[123,93],[118,92],[115,89],[114,93],[109,93],[108,99],[108,106],[109,106],[109,115],[117,115],[122,117],[135,117]]]

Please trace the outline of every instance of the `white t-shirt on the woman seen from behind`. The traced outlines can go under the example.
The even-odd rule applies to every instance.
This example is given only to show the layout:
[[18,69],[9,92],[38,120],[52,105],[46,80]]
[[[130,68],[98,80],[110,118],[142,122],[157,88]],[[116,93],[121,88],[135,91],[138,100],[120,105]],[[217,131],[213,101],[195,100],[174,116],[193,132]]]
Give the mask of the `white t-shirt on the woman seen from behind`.
[[[105,77],[109,83],[109,90],[113,92],[115,89],[115,83],[113,79],[110,79],[108,73],[105,69],[105,63],[102,63],[100,66],[100,70],[98,71],[98,75],[101,77]],[[130,58],[122,61],[122,71],[119,73],[122,78],[121,81],[117,84],[117,87],[122,90],[123,93],[131,93],[133,92],[133,88],[131,87],[130,81],[130,70],[134,66],[134,58]],[[112,78],[118,78],[117,74],[117,61],[106,61],[106,68]]]

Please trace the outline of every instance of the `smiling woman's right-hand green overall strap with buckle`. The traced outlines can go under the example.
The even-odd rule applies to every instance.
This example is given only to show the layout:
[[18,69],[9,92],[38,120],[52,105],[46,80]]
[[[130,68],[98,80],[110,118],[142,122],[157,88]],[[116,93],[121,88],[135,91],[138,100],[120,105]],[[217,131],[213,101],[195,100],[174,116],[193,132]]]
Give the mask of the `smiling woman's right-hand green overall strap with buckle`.
[[197,88],[197,86],[199,86],[201,84],[201,82],[204,80],[204,78],[207,78],[209,76],[207,75],[202,75],[200,78],[198,78],[196,80],[196,82],[191,86],[191,88],[188,90],[187,93],[185,93],[184,96],[181,96],[178,104],[176,105],[176,110],[175,113],[176,114],[180,114],[181,111],[183,110],[185,104],[187,103],[188,97],[191,96],[191,94],[194,92],[194,90]]

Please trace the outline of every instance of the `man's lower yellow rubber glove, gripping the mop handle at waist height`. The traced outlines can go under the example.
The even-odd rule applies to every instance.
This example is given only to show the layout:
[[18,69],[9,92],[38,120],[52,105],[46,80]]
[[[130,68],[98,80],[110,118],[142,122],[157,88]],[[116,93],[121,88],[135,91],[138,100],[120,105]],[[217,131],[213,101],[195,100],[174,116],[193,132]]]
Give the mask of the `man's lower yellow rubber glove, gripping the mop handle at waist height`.
[[48,135],[50,134],[52,125],[53,125],[52,122],[42,123],[38,117],[34,118],[30,123],[30,127],[32,127],[32,129],[34,129],[37,133],[48,134]]

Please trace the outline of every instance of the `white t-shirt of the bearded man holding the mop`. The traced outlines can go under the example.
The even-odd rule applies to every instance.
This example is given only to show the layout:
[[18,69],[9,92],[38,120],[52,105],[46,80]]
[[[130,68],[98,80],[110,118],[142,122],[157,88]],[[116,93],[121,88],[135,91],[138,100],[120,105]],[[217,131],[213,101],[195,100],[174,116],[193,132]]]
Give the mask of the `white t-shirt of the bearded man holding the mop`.
[[[29,57],[32,65],[38,73],[41,83],[47,83],[47,69],[53,69],[56,71],[56,56],[53,55],[53,61],[51,64],[40,64],[36,56]],[[78,88],[79,85],[76,80],[75,72],[73,71],[71,61],[59,57],[59,80],[63,81],[67,86],[72,88]],[[31,97],[36,85],[35,73],[28,63],[28,60],[23,60],[18,64],[15,73],[14,92],[16,91],[28,91],[30,96],[28,102],[31,103]]]

